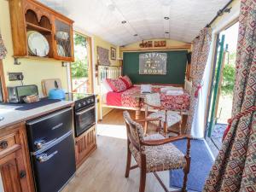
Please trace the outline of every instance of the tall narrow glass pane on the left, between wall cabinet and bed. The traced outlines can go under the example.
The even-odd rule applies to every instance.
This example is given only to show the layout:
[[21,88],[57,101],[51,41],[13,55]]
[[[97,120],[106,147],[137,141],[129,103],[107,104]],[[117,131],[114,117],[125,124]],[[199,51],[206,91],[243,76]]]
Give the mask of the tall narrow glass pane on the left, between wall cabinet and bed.
[[89,59],[87,38],[74,33],[74,62],[71,64],[71,80],[73,92],[89,92]]

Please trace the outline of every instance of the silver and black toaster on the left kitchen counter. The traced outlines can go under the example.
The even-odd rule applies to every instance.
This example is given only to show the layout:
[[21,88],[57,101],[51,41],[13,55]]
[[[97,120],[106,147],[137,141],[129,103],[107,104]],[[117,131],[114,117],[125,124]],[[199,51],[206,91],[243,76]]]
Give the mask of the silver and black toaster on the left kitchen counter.
[[26,96],[38,96],[38,86],[36,84],[7,87],[9,102],[22,103]]

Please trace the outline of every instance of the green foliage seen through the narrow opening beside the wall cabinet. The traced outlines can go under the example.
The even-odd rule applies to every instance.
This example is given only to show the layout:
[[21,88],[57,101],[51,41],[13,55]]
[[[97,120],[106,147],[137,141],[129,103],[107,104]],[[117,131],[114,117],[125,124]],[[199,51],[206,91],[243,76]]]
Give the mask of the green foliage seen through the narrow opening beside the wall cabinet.
[[87,78],[88,77],[88,60],[87,55],[81,55],[80,49],[84,49],[86,52],[86,38],[75,33],[74,34],[74,55],[75,61],[71,65],[71,75],[73,79]]

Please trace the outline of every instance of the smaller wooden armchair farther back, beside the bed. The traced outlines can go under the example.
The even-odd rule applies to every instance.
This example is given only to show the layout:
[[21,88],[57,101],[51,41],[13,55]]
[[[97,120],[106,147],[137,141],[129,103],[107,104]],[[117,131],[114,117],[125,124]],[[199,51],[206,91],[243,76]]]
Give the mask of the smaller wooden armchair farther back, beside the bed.
[[[181,134],[181,128],[182,128],[182,108],[177,112],[170,111],[166,109],[164,106],[161,105],[160,101],[160,94],[159,93],[152,93],[147,94],[145,96],[145,119],[149,118],[160,118],[161,122],[159,127],[163,127],[164,129],[164,136],[166,137],[167,132],[173,132],[177,135]],[[148,113],[149,109],[157,110],[153,113]],[[154,125],[158,125],[158,121],[152,121],[151,122]],[[170,129],[172,125],[178,124],[178,131],[173,131]],[[145,122],[145,132],[148,130],[148,122]]]

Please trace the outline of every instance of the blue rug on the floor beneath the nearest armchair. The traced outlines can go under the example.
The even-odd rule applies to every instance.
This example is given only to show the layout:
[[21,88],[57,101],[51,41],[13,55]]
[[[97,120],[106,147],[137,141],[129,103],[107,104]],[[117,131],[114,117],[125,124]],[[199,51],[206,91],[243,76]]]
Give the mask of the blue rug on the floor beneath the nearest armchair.
[[[186,153],[187,140],[180,140],[173,143],[183,154]],[[208,174],[212,169],[212,155],[209,153],[206,143],[203,140],[191,140],[191,164],[188,177],[187,189],[202,191]],[[170,171],[170,187],[181,188],[183,186],[183,170]]]

